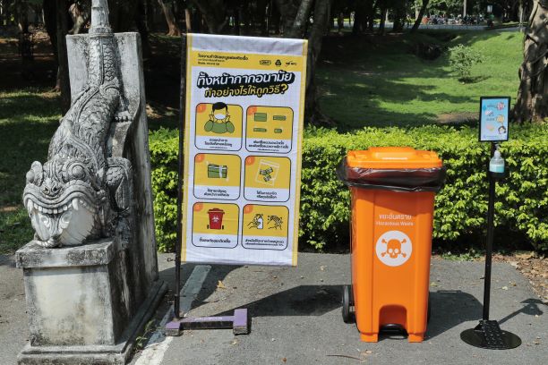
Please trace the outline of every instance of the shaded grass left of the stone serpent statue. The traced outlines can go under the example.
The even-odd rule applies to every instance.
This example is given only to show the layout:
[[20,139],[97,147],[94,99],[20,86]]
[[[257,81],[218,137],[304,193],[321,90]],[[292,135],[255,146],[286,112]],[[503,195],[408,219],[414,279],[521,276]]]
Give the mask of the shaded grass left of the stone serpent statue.
[[21,203],[25,174],[44,162],[59,124],[60,100],[44,89],[0,91],[0,253],[13,252],[32,238]]

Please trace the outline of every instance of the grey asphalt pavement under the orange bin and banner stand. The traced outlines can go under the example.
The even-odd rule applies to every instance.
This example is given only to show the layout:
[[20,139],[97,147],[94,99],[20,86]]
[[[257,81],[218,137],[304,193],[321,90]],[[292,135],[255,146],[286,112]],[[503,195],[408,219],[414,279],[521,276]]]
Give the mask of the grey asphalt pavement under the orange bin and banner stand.
[[[173,255],[160,255],[160,276],[173,288]],[[186,286],[184,305],[191,316],[211,316],[247,308],[252,333],[230,330],[188,331],[180,337],[153,335],[135,365],[179,364],[541,364],[548,358],[548,309],[527,279],[507,264],[495,263],[492,318],[518,334],[523,343],[510,351],[476,349],[460,341],[462,330],[481,318],[481,262],[432,261],[432,318],[422,344],[382,338],[359,341],[354,325],[340,315],[341,285],[350,281],[349,256],[299,254],[298,267],[183,266],[201,290]],[[194,274],[192,274],[194,273]],[[218,288],[218,281],[224,288]],[[21,270],[0,256],[0,363],[13,364],[28,337]],[[195,297],[195,300],[194,300]],[[167,301],[170,298],[167,298]],[[157,314],[165,316],[169,303]],[[543,360],[544,359],[544,360]]]

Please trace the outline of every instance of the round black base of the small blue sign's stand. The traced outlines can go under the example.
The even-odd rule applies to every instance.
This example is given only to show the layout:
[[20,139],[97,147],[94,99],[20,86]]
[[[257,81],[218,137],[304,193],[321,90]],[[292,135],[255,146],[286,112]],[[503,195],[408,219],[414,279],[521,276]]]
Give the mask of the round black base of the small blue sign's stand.
[[518,347],[521,339],[508,331],[501,330],[496,320],[480,320],[475,328],[460,334],[467,344],[491,350],[508,350]]

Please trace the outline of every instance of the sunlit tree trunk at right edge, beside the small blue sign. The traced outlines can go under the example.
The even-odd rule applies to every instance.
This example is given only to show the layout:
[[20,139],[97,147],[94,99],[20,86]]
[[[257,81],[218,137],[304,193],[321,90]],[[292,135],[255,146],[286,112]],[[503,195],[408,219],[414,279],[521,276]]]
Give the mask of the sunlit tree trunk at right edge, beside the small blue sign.
[[527,25],[514,106],[514,117],[520,123],[548,118],[548,4],[543,3],[535,0]]

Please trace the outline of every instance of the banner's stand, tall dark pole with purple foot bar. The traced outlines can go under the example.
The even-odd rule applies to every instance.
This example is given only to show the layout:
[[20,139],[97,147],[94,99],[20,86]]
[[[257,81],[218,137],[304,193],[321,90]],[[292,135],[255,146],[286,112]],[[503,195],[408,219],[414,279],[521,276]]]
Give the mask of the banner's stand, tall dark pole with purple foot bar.
[[[177,233],[176,233],[176,284],[173,301],[173,318],[167,322],[165,334],[170,336],[182,335],[188,329],[224,329],[232,328],[235,335],[249,334],[249,318],[247,309],[234,310],[233,316],[182,318],[181,297],[181,242],[183,242],[183,159],[184,159],[184,123],[186,106],[186,35],[181,38],[181,98],[179,111],[179,156],[177,169]],[[183,313],[184,314],[184,313]]]

